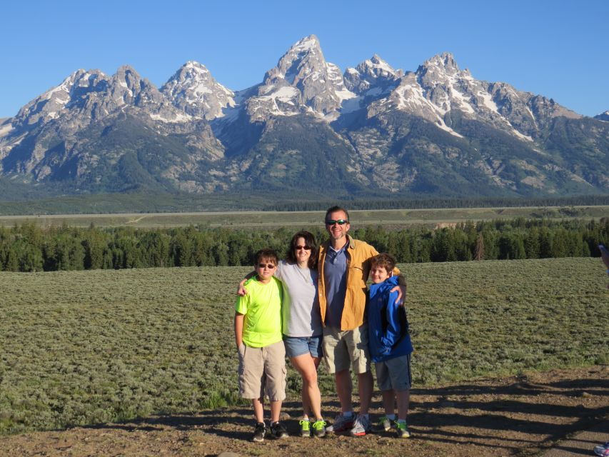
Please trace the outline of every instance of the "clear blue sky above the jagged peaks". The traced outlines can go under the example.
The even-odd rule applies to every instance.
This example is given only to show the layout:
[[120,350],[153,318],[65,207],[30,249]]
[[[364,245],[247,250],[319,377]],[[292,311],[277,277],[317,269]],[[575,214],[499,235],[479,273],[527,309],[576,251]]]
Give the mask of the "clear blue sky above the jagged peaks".
[[475,79],[609,110],[607,0],[15,0],[0,9],[0,117],[81,68],[129,64],[160,87],[196,60],[246,89],[310,34],[342,71],[373,54],[415,71],[448,51]]

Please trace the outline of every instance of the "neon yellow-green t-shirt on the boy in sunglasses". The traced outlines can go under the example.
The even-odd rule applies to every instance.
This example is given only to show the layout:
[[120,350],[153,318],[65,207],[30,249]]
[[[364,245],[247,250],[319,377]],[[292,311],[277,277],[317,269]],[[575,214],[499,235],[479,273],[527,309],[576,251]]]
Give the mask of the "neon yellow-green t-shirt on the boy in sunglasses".
[[235,311],[244,315],[243,343],[261,348],[281,341],[281,281],[273,276],[263,284],[254,277],[245,288],[248,293],[235,304]]

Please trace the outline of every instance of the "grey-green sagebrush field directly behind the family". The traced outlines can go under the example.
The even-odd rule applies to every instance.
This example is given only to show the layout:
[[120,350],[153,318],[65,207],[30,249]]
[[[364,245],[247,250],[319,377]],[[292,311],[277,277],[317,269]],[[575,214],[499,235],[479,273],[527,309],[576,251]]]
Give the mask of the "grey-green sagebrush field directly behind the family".
[[[609,363],[598,258],[400,268],[418,387]],[[233,303],[249,270],[0,272],[0,433],[238,403]],[[288,387],[296,398],[291,369]]]

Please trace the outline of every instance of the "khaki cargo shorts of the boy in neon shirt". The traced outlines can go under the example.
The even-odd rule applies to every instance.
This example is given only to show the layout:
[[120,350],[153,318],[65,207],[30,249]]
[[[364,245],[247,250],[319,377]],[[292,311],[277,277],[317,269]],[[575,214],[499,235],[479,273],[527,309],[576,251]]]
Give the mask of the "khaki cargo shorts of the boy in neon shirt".
[[270,346],[239,347],[239,393],[243,398],[281,401],[286,398],[286,348],[283,341]]

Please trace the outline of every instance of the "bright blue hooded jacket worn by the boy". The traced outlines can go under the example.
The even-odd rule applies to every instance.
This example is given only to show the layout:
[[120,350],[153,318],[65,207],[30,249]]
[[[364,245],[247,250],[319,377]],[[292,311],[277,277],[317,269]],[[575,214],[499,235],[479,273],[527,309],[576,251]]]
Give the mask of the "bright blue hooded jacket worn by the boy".
[[413,351],[408,329],[400,322],[401,304],[396,304],[398,293],[391,289],[398,285],[398,276],[370,286],[368,299],[368,343],[373,362],[406,356]]

